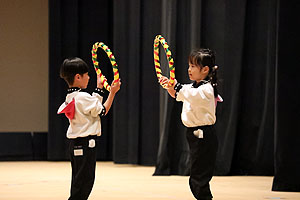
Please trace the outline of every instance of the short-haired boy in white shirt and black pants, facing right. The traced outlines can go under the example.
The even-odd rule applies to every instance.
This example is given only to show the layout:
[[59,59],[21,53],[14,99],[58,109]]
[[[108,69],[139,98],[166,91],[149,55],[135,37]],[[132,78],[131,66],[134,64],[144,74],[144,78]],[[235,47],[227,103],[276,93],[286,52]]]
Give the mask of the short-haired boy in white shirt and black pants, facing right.
[[[97,88],[90,95],[88,65],[80,58],[65,59],[60,76],[68,86],[68,94],[58,113],[69,118],[67,138],[72,167],[71,194],[69,200],[88,199],[95,180],[97,136],[101,135],[100,117],[109,111],[121,82],[113,82],[107,100],[102,104],[103,85],[97,77]],[[100,117],[99,117],[100,116]]]

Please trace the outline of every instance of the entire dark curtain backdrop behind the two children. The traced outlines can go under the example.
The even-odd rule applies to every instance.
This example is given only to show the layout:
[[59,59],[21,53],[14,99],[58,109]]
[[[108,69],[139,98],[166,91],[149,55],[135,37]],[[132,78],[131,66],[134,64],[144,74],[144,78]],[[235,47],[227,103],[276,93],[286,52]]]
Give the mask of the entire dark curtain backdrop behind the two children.
[[[188,175],[181,104],[161,89],[154,72],[153,39],[162,34],[179,82],[188,82],[192,48],[217,53],[224,102],[217,110],[215,174],[275,175],[274,190],[300,191],[299,7],[296,0],[50,0],[48,159],[67,159],[68,122],[56,114],[67,87],[60,64],[83,58],[91,66],[91,91],[90,51],[102,41],[117,59],[122,87],[102,120],[98,160],[156,165],[155,175]],[[99,58],[111,81],[106,55],[99,52]]]

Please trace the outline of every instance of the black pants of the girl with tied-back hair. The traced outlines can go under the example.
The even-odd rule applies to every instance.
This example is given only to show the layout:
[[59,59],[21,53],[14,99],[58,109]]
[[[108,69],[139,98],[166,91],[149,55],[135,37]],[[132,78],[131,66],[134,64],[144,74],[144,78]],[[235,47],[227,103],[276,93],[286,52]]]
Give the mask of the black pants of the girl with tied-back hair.
[[[203,138],[194,135],[198,129],[203,131]],[[218,149],[215,128],[213,125],[188,128],[186,137],[190,146],[190,189],[198,200],[212,199],[209,182],[213,176]]]

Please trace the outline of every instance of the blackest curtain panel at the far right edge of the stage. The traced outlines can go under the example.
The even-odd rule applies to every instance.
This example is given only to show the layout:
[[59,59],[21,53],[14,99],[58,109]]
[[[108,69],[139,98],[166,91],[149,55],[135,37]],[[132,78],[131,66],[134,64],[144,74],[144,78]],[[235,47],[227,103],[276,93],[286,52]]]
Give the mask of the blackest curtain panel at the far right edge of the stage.
[[297,91],[300,46],[299,1],[279,2],[276,109],[275,109],[275,176],[272,190],[300,191],[300,103]]

